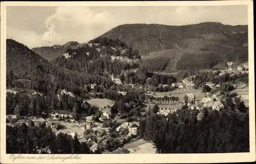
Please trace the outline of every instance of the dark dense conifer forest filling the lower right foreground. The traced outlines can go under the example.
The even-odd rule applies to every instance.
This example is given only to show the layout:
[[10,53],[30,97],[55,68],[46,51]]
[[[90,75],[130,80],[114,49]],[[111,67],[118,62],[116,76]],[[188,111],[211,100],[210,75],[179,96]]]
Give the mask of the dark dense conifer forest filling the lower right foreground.
[[157,153],[249,152],[248,108],[204,109],[199,121],[198,113],[183,107],[167,117],[152,114],[141,121],[138,135],[153,141]]

